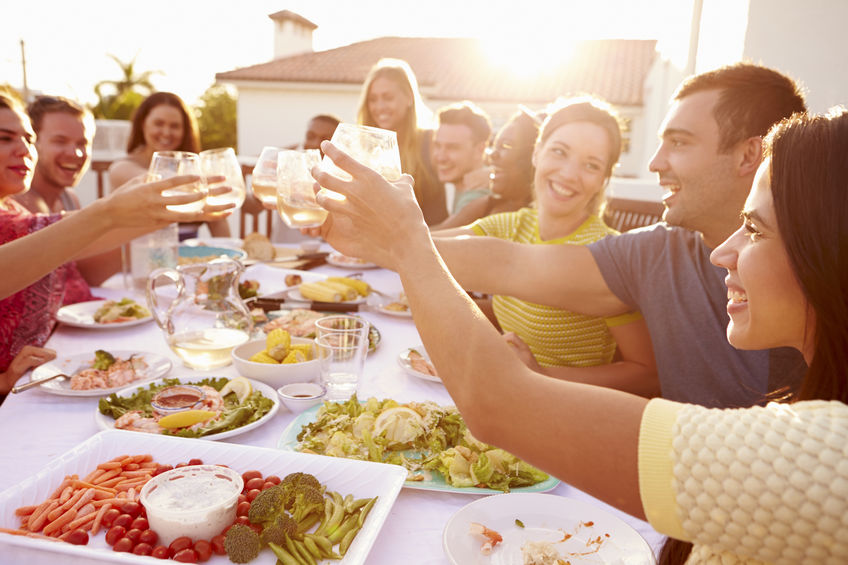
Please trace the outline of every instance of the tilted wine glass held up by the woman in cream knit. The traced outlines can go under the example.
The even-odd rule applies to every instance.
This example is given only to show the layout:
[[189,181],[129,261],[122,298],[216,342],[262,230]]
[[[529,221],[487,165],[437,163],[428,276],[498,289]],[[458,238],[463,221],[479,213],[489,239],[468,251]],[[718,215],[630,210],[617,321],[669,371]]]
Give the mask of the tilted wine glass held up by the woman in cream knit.
[[[395,132],[356,124],[339,124],[330,141],[363,165],[380,173],[384,179],[400,179],[400,151]],[[321,169],[346,180],[351,178],[326,155],[321,161]]]

